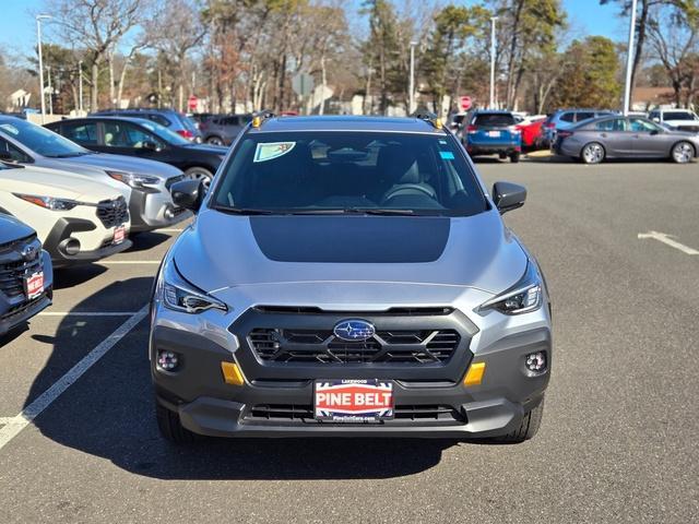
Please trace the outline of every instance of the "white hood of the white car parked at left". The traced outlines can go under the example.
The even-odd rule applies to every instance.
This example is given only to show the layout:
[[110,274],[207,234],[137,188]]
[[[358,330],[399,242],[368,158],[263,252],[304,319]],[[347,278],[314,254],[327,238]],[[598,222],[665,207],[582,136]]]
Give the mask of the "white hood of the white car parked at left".
[[36,166],[3,169],[0,171],[0,188],[12,193],[70,199],[91,204],[122,195],[115,188],[82,175]]

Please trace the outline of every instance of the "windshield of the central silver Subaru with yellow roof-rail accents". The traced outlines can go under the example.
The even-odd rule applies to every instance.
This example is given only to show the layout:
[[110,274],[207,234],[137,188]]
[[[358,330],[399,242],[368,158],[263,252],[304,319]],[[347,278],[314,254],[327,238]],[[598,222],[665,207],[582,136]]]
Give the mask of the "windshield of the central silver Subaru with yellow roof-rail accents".
[[233,213],[467,216],[487,209],[453,138],[390,132],[249,133],[221,175]]

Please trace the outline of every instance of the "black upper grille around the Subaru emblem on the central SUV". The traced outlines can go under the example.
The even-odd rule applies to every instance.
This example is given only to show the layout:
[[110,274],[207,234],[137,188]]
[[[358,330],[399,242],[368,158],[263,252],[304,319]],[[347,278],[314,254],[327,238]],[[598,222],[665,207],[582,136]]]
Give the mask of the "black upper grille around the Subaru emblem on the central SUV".
[[307,364],[443,364],[461,336],[454,330],[378,331],[363,342],[346,342],[328,330],[258,327],[250,347],[262,361]]

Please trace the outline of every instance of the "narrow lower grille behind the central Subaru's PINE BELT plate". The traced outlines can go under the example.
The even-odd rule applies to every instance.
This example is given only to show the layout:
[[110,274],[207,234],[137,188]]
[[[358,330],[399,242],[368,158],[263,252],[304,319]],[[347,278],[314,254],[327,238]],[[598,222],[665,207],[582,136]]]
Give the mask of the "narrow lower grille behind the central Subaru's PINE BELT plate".
[[[319,422],[313,417],[313,408],[307,404],[260,404],[252,406],[245,415],[245,420],[300,422],[300,424],[332,424]],[[384,424],[400,422],[458,422],[465,424],[463,412],[446,405],[398,405],[392,420]],[[345,424],[345,422],[341,422]]]

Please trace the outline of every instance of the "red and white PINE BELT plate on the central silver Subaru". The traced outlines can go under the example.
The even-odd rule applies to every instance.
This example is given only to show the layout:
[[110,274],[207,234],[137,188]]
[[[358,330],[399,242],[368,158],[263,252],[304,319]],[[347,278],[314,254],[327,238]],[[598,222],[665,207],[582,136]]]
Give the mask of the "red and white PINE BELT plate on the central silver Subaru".
[[315,416],[331,422],[378,422],[393,418],[393,383],[370,380],[317,380]]

